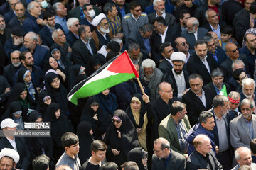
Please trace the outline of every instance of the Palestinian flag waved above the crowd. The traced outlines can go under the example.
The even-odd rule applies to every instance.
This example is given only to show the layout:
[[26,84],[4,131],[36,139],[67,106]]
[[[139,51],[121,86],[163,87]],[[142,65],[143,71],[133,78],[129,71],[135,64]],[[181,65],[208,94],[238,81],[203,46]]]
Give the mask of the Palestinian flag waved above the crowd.
[[68,101],[77,105],[78,98],[86,98],[99,94],[105,91],[105,89],[121,84],[134,77],[139,77],[139,74],[125,51],[122,55],[114,57],[105,63],[100,69],[97,69],[96,72],[90,75],[90,77],[74,86],[68,94]]

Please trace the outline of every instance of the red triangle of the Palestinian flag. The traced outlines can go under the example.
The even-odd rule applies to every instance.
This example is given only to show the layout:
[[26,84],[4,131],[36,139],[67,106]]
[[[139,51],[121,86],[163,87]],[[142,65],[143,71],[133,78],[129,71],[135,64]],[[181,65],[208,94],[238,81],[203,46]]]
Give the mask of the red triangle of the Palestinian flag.
[[139,74],[126,51],[117,57],[107,70],[115,73],[134,73],[136,77],[139,77]]

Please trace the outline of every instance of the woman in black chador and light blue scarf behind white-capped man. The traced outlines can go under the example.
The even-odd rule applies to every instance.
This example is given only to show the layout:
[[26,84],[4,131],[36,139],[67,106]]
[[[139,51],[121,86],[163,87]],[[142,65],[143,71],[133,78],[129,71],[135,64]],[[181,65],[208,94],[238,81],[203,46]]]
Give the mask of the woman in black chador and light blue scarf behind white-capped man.
[[27,115],[26,111],[23,110],[23,107],[21,103],[18,101],[11,102],[9,108],[7,108],[4,115],[1,117],[1,121],[6,118],[11,118],[14,120],[15,123],[18,123],[19,125],[16,127],[17,130],[24,130],[23,122],[26,121]]

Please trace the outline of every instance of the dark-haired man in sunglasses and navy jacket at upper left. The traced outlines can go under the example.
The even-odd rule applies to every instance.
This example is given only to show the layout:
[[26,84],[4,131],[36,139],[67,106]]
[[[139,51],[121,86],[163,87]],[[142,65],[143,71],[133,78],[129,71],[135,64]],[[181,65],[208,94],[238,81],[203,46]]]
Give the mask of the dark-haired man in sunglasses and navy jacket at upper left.
[[60,26],[60,24],[55,22],[55,15],[50,11],[43,13],[43,21],[46,21],[46,26],[43,26],[39,32],[39,35],[41,35],[43,45],[50,47],[54,43],[53,38],[51,37],[53,30],[58,28],[63,30],[63,28]]

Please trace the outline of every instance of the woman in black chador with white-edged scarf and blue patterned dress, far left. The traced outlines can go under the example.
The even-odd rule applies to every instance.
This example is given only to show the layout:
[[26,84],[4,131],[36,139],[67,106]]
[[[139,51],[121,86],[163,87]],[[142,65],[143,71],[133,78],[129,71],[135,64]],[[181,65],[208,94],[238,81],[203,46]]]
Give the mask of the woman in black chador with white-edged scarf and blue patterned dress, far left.
[[33,84],[32,77],[31,77],[31,72],[30,72],[29,69],[23,67],[19,70],[17,82],[18,83],[24,83],[26,85],[28,93],[33,98],[33,100],[36,101],[38,91],[36,90],[36,88]]

